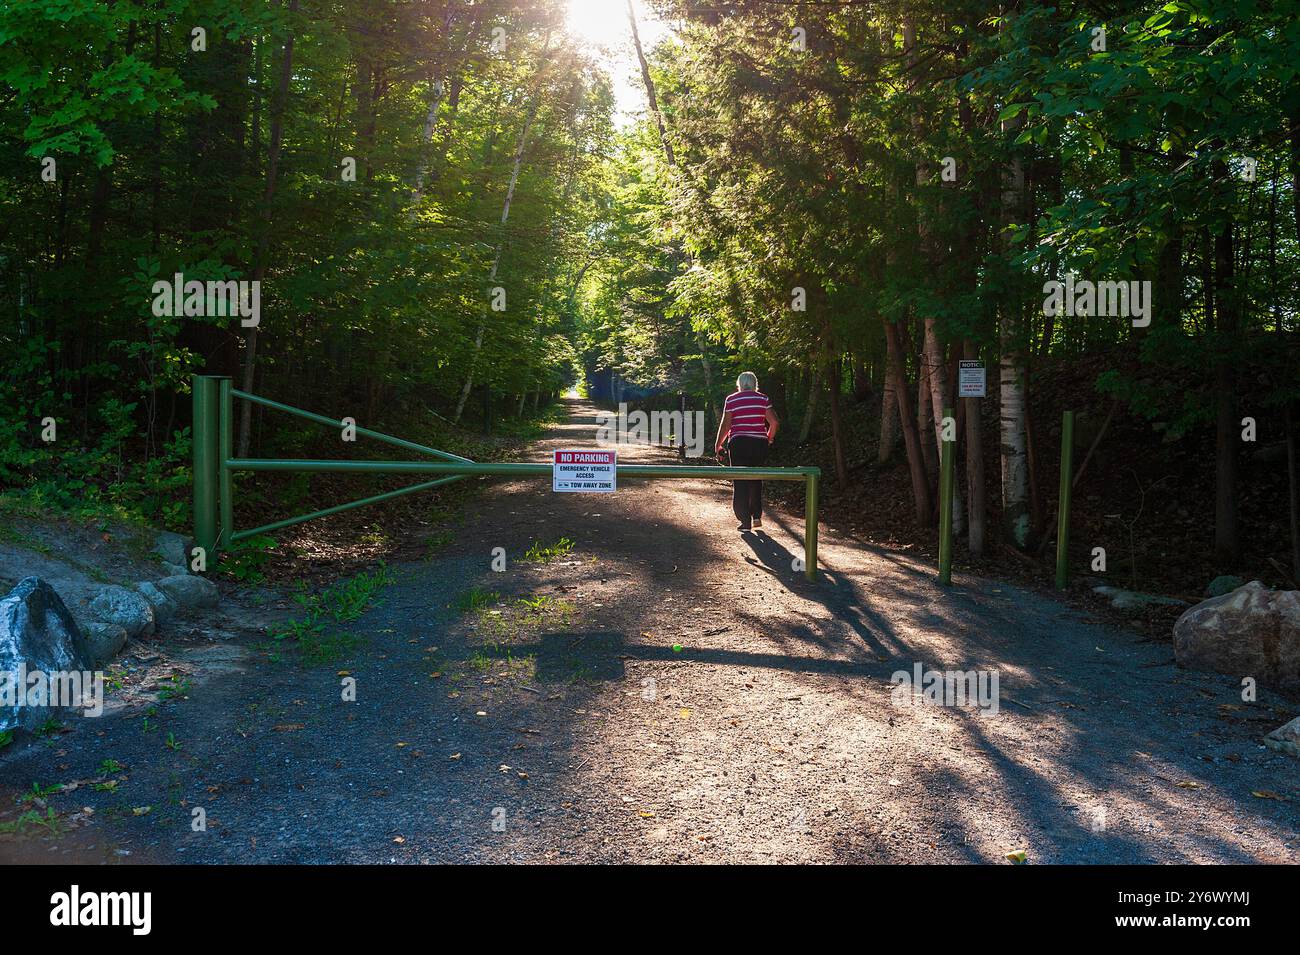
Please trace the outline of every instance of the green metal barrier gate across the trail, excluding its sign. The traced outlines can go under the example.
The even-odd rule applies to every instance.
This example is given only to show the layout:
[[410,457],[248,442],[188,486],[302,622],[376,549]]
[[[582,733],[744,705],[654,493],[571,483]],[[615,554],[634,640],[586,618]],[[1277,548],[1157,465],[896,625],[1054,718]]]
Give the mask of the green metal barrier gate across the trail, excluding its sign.
[[[313,414],[302,408],[294,408],[268,398],[250,395],[231,386],[230,378],[216,376],[192,376],[194,383],[194,541],[204,548],[207,559],[216,565],[216,556],[233,543],[257,534],[266,534],[281,528],[289,528],[317,517],[328,517],[341,511],[350,511],[364,504],[378,504],[403,494],[424,491],[438,485],[448,485],[467,477],[500,474],[506,477],[549,476],[551,465],[545,463],[489,463],[480,464],[468,457],[452,455],[415,442],[394,438],[390,434],[372,431],[356,425],[356,433],[367,438],[382,440],[407,451],[426,456],[421,461],[334,461],[334,460],[283,460],[268,457],[235,457],[233,452],[234,399],[240,398],[265,408],[295,414],[330,427],[342,427],[343,422],[324,414]],[[386,494],[376,494],[346,504],[313,511],[282,521],[264,524],[250,530],[235,530],[234,502],[231,498],[231,474],[237,470],[300,470],[300,472],[348,472],[370,474],[438,474],[433,481],[422,481],[410,487],[402,487]],[[754,481],[802,481],[805,487],[803,516],[803,561],[805,574],[816,579],[816,512],[819,468],[722,468],[684,466],[660,464],[619,464],[620,478],[725,478]]]

